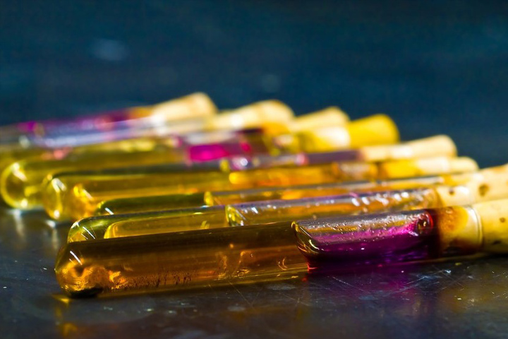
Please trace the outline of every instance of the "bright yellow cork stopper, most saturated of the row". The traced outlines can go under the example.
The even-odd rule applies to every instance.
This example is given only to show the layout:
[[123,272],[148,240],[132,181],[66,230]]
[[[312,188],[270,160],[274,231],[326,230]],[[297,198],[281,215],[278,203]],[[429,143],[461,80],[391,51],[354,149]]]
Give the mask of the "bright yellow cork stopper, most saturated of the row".
[[397,143],[399,141],[397,125],[386,114],[375,114],[351,121],[347,129],[351,138],[349,145],[351,148]]

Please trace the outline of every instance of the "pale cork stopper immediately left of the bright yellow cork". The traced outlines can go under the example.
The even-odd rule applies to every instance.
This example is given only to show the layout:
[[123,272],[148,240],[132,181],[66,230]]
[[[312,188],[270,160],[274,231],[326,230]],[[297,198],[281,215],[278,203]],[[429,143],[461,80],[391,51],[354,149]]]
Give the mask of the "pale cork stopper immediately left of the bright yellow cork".
[[327,107],[320,111],[296,117],[290,124],[291,133],[319,129],[326,126],[346,126],[349,117],[339,107]]

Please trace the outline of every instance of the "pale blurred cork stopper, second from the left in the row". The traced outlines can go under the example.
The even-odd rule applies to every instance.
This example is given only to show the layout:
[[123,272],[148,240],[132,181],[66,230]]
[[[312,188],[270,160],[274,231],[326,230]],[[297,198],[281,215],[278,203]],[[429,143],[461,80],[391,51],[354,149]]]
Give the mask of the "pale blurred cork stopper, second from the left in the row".
[[222,112],[207,121],[207,129],[250,129],[278,124],[286,126],[293,119],[293,111],[284,103],[266,100]]

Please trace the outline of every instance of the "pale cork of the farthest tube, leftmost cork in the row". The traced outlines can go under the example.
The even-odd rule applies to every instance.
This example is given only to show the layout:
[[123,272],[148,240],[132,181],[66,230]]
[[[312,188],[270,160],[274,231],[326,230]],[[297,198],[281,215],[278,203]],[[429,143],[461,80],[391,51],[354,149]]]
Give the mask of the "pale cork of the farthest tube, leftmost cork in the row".
[[217,107],[205,93],[194,93],[151,107],[152,117],[161,121],[212,117]]

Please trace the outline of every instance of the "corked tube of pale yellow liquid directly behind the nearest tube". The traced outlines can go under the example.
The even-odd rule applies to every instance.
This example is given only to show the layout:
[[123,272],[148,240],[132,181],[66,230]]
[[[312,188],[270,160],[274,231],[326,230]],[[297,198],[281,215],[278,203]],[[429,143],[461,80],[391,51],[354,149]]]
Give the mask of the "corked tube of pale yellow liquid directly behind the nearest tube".
[[[154,233],[236,227],[271,222],[357,215],[389,210],[440,208],[508,198],[508,172],[472,179],[459,186],[437,185],[418,189],[354,192],[291,200],[236,203],[228,206],[184,208],[152,213],[106,215],[75,222],[68,241],[129,237]],[[482,187],[496,185],[492,191]]]

